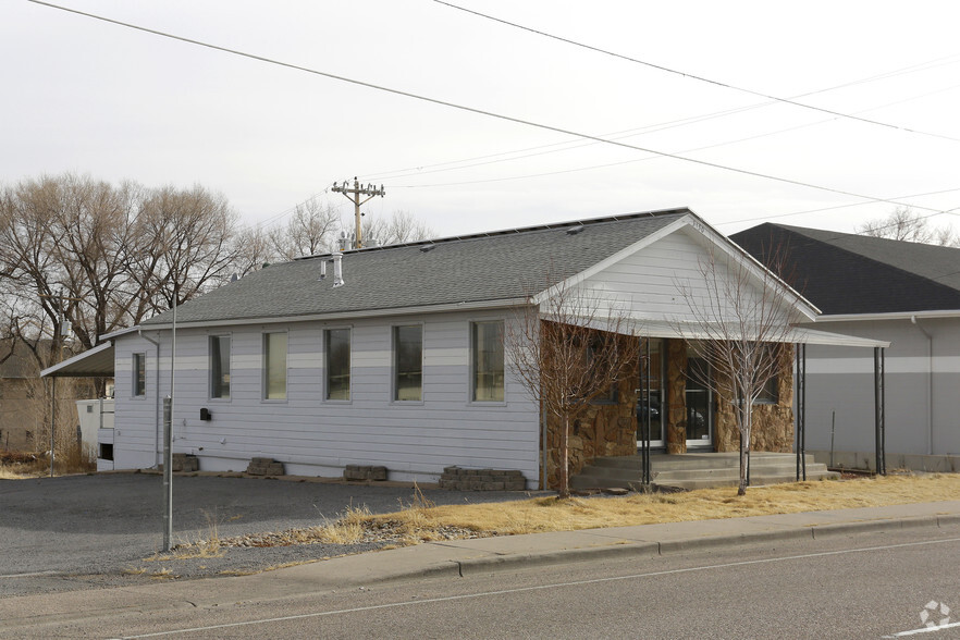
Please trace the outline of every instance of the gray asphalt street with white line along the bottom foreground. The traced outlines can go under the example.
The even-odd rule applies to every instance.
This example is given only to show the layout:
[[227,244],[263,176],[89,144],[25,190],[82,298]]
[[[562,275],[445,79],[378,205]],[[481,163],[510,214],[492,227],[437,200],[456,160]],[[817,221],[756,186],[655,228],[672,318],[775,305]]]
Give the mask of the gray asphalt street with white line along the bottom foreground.
[[[118,602],[115,612],[30,631],[46,638],[882,638],[924,629],[934,616],[960,620],[958,561],[960,526],[950,526],[558,563],[269,602],[148,612],[123,611]],[[921,637],[958,633],[960,627],[946,627]]]

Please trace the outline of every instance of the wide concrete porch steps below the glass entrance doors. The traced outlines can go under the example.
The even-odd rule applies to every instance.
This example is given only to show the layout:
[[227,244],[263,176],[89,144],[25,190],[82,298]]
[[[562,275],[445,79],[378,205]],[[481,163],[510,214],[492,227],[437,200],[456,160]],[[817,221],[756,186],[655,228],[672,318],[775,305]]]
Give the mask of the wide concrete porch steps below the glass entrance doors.
[[[807,479],[826,480],[839,475],[807,455]],[[793,482],[797,478],[797,455],[792,453],[753,452],[750,454],[750,484]],[[678,489],[736,487],[740,481],[740,454],[684,453],[650,456],[651,484]],[[637,489],[642,482],[643,459],[635,456],[594,458],[570,478],[575,490],[624,488]]]

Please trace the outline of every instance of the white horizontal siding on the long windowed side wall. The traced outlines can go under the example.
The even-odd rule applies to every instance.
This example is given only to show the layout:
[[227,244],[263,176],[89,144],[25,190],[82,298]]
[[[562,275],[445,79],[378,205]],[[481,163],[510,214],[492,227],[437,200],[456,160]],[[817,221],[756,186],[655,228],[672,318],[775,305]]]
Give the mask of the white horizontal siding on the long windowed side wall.
[[[285,463],[291,473],[337,476],[348,464],[384,465],[392,479],[433,481],[443,467],[459,465],[519,469],[536,487],[539,411],[521,385],[507,372],[506,402],[469,402],[470,322],[508,317],[484,311],[232,327],[229,332],[181,329],[174,451],[199,456],[205,470],[243,470],[251,457],[268,456]],[[423,401],[393,403],[391,328],[410,322],[423,324]],[[323,330],[342,327],[352,329],[350,401],[323,402]],[[261,399],[264,331],[288,332],[285,401]],[[232,336],[231,397],[210,399],[207,336],[224,333]],[[149,335],[157,339],[158,332]],[[162,395],[169,390],[170,332],[159,332],[159,339]],[[118,426],[139,435],[128,455],[114,444],[116,468],[149,466],[140,461],[147,458],[153,464],[156,347],[136,336],[118,339],[118,367],[135,350],[147,353],[147,398],[130,398],[131,376],[118,371]],[[202,407],[212,414],[210,421],[200,420]]]

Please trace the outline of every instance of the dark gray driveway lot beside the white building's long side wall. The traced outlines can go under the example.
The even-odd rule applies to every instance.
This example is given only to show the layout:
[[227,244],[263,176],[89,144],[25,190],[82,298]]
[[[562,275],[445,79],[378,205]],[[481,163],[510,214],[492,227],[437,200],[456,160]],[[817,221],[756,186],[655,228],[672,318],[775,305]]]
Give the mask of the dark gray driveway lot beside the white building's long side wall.
[[[424,490],[436,504],[524,500],[526,492]],[[174,542],[312,527],[366,506],[397,510],[410,487],[187,477],[173,479]],[[0,480],[0,598],[126,584],[159,577],[196,578],[359,553],[377,544],[226,549],[221,557],[151,559],[163,540],[159,475],[104,473]]]

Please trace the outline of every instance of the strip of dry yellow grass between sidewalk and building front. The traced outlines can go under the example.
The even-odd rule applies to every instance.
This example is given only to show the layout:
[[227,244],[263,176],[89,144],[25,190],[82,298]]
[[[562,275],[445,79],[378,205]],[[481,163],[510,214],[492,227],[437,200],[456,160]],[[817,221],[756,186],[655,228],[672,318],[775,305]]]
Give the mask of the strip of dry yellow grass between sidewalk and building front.
[[537,497],[512,503],[414,505],[368,519],[374,524],[399,522],[411,533],[417,532],[408,541],[415,542],[430,540],[424,532],[442,527],[514,536],[957,499],[960,475],[889,476],[756,487],[739,497],[736,489],[725,488],[615,499]]

